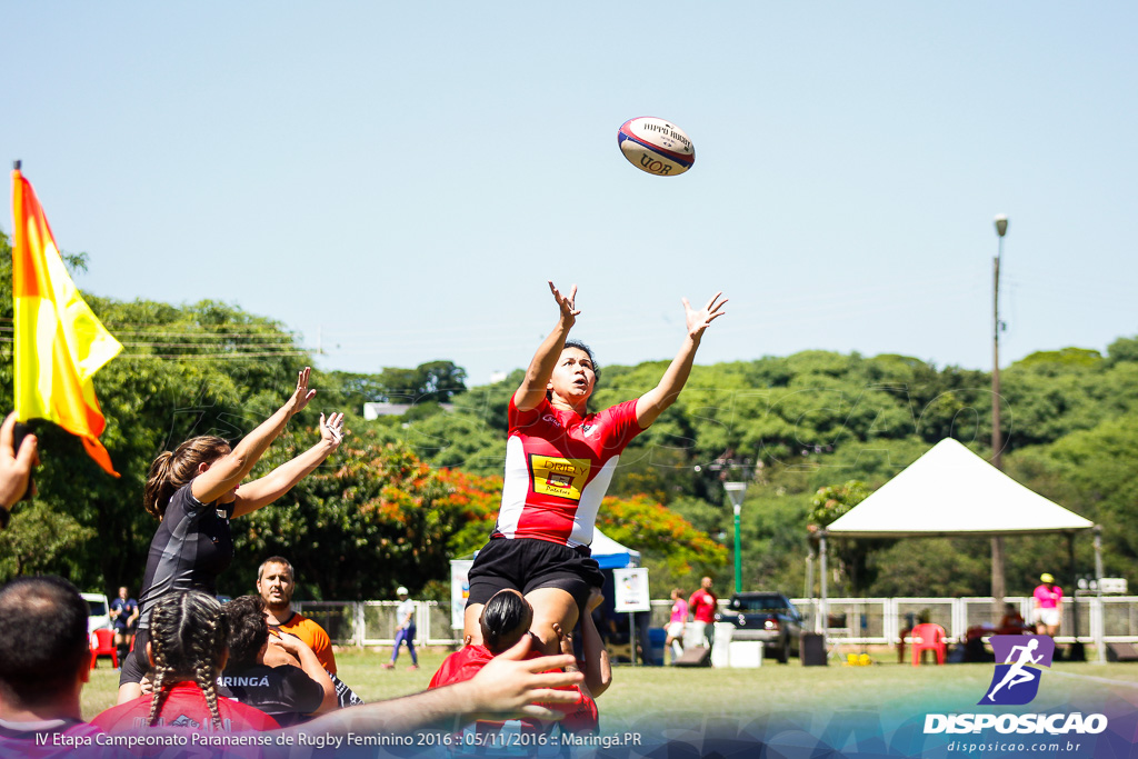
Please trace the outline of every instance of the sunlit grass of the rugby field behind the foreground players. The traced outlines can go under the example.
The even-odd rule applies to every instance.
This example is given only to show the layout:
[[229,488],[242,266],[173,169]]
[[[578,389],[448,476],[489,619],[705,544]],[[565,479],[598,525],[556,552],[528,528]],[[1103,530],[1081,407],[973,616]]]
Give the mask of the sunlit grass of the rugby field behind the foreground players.
[[[398,668],[380,667],[390,650],[347,649],[336,654],[340,678],[365,701],[380,701],[427,687],[447,654],[422,651],[421,668],[409,669],[404,652]],[[1089,654],[1088,654],[1089,655]],[[676,719],[753,719],[773,713],[833,713],[847,710],[973,710],[992,677],[992,665],[943,667],[897,665],[883,652],[871,667],[802,667],[764,662],[758,669],[676,669],[617,667],[612,687],[600,699],[602,732],[618,732],[655,716]],[[83,691],[83,716],[90,719],[113,706],[118,673],[100,660]],[[1138,700],[1138,666],[1056,662],[1044,674],[1032,709],[1069,703],[1094,706]]]

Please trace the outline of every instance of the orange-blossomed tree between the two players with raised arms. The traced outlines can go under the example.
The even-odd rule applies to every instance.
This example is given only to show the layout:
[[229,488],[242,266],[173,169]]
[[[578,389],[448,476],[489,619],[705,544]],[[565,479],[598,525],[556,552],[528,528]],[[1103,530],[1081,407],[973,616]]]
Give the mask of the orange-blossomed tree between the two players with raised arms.
[[[314,430],[270,448],[269,470]],[[386,599],[448,577],[451,536],[465,527],[452,488],[405,446],[348,437],[336,456],[277,504],[233,521],[237,559],[223,592],[251,589],[256,567],[280,554],[297,569],[297,597]]]

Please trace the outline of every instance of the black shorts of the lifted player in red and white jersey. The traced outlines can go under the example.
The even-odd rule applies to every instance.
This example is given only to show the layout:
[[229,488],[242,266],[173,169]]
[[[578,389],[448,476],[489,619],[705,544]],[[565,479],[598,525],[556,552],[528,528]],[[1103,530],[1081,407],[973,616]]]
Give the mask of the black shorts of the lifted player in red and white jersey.
[[584,609],[592,588],[604,585],[604,575],[588,546],[570,548],[534,538],[494,538],[478,552],[467,576],[467,605],[486,603],[498,591],[522,595],[542,587],[567,592]]

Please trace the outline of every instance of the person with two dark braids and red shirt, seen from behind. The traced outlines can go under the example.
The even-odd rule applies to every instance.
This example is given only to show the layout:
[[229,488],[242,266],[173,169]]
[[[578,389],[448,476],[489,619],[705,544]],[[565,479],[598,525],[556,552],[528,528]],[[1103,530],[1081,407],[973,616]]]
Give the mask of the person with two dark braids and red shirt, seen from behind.
[[91,720],[106,733],[146,727],[204,732],[280,727],[258,709],[217,694],[217,675],[229,655],[229,625],[221,603],[200,591],[173,593],[151,612],[147,657],[154,662],[154,693],[112,707]]

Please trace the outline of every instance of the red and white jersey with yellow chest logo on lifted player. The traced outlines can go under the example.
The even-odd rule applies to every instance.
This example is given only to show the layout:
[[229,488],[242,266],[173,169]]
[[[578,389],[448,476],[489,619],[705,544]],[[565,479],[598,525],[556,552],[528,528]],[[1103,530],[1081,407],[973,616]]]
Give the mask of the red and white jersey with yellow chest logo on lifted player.
[[509,421],[494,537],[588,545],[620,452],[642,431],[636,401],[583,419],[546,399],[519,411],[511,397]]

